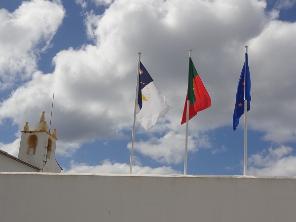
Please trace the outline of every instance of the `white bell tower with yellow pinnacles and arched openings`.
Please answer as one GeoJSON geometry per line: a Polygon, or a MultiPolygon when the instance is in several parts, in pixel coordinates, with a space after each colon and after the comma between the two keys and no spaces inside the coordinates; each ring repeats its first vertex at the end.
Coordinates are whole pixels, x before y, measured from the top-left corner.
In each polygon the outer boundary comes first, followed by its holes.
{"type": "Polygon", "coordinates": [[[45,112],[42,112],[40,121],[31,129],[26,122],[21,135],[18,158],[37,166],[40,172],[61,173],[62,168],[55,159],[57,133],[52,134],[45,121],[45,112]]]}

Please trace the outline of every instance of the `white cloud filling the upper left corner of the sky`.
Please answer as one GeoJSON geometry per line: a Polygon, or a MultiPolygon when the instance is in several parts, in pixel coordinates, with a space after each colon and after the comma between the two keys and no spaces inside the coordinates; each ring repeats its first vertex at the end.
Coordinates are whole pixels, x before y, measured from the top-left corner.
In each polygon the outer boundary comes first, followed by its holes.
{"type": "Polygon", "coordinates": [[[12,13],[0,9],[0,90],[30,79],[64,14],[60,3],[44,0],[24,1],[12,13]]]}

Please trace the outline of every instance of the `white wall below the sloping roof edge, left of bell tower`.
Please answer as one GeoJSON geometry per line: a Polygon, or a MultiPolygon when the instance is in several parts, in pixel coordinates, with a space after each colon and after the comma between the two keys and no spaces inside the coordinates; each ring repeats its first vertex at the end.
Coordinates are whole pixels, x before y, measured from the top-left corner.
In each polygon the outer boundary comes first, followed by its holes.
{"type": "MultiPolygon", "coordinates": [[[[39,170],[0,154],[0,170],[10,172],[39,172],[39,170]]],[[[1,189],[1,186],[0,186],[1,189]]]]}

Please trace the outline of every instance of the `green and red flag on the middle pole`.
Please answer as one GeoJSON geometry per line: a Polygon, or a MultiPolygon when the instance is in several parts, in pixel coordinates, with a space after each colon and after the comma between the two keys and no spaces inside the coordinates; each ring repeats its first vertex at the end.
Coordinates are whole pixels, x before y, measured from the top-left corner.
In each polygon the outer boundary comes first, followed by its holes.
{"type": "Polygon", "coordinates": [[[187,100],[189,100],[188,120],[196,115],[198,111],[205,110],[211,106],[211,98],[197,74],[191,58],[189,57],[188,89],[181,124],[186,122],[187,100]]]}

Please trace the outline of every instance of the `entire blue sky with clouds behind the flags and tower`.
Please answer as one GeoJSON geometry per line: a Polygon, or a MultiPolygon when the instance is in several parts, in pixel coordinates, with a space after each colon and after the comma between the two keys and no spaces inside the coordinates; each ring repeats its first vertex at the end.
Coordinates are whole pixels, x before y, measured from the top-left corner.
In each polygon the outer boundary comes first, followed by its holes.
{"type": "Polygon", "coordinates": [[[171,109],[135,128],[133,173],[184,174],[188,49],[212,106],[189,121],[187,174],[243,175],[232,129],[245,45],[247,175],[296,176],[296,0],[0,0],[0,149],[57,131],[63,173],[129,173],[138,52],[171,109]]]}

